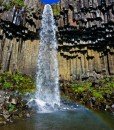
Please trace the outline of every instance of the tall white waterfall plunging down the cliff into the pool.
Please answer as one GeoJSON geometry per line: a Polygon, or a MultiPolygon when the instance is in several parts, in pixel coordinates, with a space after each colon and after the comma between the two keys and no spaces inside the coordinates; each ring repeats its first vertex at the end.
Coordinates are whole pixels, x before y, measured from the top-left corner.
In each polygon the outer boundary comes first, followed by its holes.
{"type": "Polygon", "coordinates": [[[60,106],[56,26],[48,4],[42,15],[36,85],[35,101],[40,111],[55,110],[60,106]]]}

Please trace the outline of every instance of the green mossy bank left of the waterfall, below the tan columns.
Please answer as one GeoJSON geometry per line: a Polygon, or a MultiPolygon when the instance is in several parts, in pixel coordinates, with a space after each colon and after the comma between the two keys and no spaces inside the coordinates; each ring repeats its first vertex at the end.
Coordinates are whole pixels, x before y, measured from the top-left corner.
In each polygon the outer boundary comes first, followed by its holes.
{"type": "Polygon", "coordinates": [[[5,72],[0,75],[0,88],[18,90],[21,93],[34,92],[35,82],[30,76],[5,72]]]}

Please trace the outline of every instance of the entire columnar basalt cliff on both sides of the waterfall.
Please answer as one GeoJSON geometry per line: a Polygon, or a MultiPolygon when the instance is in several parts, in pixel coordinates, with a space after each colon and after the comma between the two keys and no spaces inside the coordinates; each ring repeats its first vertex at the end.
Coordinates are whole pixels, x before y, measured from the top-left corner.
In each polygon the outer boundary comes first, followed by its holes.
{"type": "MultiPolygon", "coordinates": [[[[0,70],[35,74],[43,5],[0,7],[0,70]]],[[[114,74],[114,5],[110,1],[64,1],[53,5],[61,79],[114,74]]]]}

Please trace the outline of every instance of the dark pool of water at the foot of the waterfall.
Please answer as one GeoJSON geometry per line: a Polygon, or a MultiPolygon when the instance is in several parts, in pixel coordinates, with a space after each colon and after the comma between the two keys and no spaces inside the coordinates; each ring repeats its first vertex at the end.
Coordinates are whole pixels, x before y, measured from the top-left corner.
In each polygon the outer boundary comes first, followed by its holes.
{"type": "Polygon", "coordinates": [[[0,127],[0,130],[114,130],[114,116],[86,109],[38,113],[0,127]]]}

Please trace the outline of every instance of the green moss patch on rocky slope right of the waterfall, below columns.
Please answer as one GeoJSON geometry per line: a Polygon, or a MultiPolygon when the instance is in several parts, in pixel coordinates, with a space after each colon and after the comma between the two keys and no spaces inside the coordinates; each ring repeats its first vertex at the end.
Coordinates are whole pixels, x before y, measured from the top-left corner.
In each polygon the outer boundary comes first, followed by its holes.
{"type": "Polygon", "coordinates": [[[97,86],[92,86],[89,81],[76,82],[71,84],[71,89],[76,94],[78,100],[81,101],[80,95],[83,97],[83,101],[91,99],[94,97],[98,102],[105,101],[106,95],[112,95],[114,92],[114,78],[105,77],[99,80],[97,86]]]}

